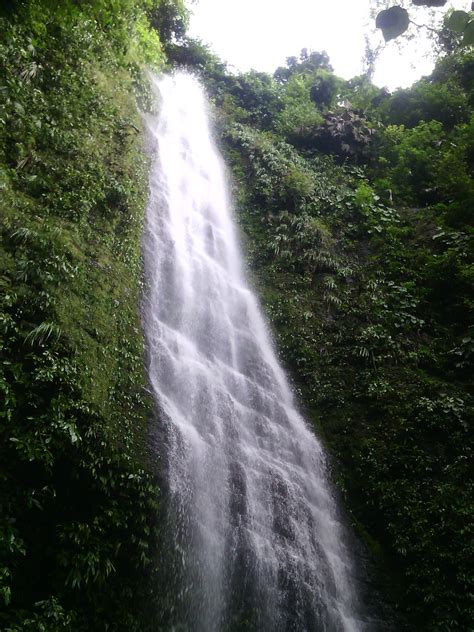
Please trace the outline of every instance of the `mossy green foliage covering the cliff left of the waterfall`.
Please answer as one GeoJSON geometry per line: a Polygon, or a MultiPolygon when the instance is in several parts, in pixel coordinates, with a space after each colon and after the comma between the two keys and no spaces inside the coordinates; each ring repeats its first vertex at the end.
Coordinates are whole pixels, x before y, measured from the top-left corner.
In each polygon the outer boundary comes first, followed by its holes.
{"type": "Polygon", "coordinates": [[[157,12],[131,0],[2,9],[0,628],[10,632],[141,632],[154,614],[135,97],[146,98],[144,64],[164,62],[157,12]]]}

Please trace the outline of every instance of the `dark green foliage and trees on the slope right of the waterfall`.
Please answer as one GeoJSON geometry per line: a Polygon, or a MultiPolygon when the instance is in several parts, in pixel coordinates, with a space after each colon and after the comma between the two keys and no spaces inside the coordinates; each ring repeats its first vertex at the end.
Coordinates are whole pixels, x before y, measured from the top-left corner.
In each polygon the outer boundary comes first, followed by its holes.
{"type": "Polygon", "coordinates": [[[307,51],[273,79],[203,72],[278,348],[398,628],[474,617],[473,62],[393,95],[307,51]]]}

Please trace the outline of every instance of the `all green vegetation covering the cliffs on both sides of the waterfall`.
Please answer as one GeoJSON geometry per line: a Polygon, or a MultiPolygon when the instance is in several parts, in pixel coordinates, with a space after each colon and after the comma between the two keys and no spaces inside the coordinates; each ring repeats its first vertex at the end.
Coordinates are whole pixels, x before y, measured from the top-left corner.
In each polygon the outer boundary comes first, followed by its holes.
{"type": "Polygon", "coordinates": [[[0,9],[2,629],[172,609],[138,314],[137,101],[168,60],[206,82],[282,360],[398,628],[469,629],[474,54],[453,16],[432,76],[390,95],[325,53],[232,75],[180,0],[0,9]]]}

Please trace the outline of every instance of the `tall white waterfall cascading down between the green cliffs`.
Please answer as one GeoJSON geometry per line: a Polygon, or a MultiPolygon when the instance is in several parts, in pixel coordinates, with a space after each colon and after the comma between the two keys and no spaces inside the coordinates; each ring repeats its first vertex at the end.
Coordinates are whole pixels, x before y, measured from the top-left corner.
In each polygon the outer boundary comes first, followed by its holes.
{"type": "Polygon", "coordinates": [[[154,85],[144,322],[164,424],[169,629],[362,630],[324,454],[245,278],[202,89],[185,74],[154,85]]]}

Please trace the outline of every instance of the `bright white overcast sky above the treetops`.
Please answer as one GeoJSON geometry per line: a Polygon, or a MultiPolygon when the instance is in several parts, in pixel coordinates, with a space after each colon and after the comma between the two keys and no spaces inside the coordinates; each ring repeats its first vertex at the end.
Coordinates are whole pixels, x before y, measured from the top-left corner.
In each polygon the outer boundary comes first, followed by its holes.
{"type": "MultiPolygon", "coordinates": [[[[470,4],[453,0],[436,14],[442,15],[448,6],[469,10],[470,4]]],[[[326,50],[336,74],[349,79],[362,70],[364,33],[373,24],[370,5],[370,0],[197,0],[188,3],[193,13],[189,34],[243,71],[273,73],[302,48],[326,50]]],[[[416,7],[411,14],[415,11],[416,7]]],[[[423,22],[419,13],[417,21],[423,22]]],[[[393,41],[385,46],[374,83],[405,87],[431,71],[427,40],[419,36],[407,46],[404,53],[393,41]]]]}

